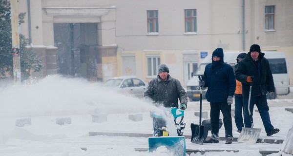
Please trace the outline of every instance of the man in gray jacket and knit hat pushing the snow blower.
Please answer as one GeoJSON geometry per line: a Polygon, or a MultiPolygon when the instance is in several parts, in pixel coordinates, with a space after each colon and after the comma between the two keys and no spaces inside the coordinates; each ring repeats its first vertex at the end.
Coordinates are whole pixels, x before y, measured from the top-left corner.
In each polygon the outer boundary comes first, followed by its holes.
{"type": "MultiPolygon", "coordinates": [[[[158,66],[158,73],[159,75],[157,78],[153,78],[148,82],[148,86],[144,93],[144,99],[151,101],[156,104],[156,106],[178,108],[179,98],[181,103],[179,108],[186,110],[188,97],[180,81],[171,78],[169,75],[169,68],[166,64],[160,64],[158,66]]],[[[153,117],[153,127],[153,136],[158,136],[160,134],[159,130],[162,127],[166,127],[165,119],[153,117]]]]}

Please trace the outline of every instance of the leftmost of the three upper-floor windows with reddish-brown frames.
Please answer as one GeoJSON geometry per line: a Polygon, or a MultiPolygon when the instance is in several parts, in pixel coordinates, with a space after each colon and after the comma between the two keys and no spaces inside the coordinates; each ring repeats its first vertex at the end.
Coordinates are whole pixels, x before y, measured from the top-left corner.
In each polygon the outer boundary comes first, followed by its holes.
{"type": "Polygon", "coordinates": [[[147,32],[159,32],[158,10],[147,11],[147,32]]]}

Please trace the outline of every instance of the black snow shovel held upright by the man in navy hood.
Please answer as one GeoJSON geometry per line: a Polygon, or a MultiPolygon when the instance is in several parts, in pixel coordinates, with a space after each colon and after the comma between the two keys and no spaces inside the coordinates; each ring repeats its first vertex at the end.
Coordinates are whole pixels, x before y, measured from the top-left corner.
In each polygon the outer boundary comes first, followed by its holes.
{"type": "MultiPolygon", "coordinates": [[[[202,80],[202,75],[198,76],[198,79],[201,81],[202,80]]],[[[202,86],[200,86],[200,100],[199,100],[199,125],[191,123],[190,128],[191,128],[191,142],[196,143],[196,144],[204,144],[204,141],[208,137],[208,129],[205,128],[204,125],[201,124],[201,115],[202,115],[202,98],[203,98],[203,89],[202,86]]]]}

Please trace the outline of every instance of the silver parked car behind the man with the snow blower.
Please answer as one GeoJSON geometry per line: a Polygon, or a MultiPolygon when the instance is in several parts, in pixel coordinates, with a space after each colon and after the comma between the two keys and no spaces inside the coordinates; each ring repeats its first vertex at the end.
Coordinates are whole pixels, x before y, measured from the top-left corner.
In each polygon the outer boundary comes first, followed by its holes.
{"type": "Polygon", "coordinates": [[[147,83],[140,78],[123,76],[110,78],[103,83],[103,86],[116,88],[126,95],[143,98],[147,83]]]}

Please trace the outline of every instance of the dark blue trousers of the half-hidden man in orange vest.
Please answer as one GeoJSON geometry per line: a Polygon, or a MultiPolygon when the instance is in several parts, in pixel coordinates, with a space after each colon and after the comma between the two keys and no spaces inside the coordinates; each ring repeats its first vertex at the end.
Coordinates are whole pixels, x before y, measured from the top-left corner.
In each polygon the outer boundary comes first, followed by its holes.
{"type": "Polygon", "coordinates": [[[235,96],[235,124],[237,130],[241,131],[242,127],[244,127],[243,117],[242,117],[242,110],[243,110],[243,97],[242,96],[235,96]]]}

